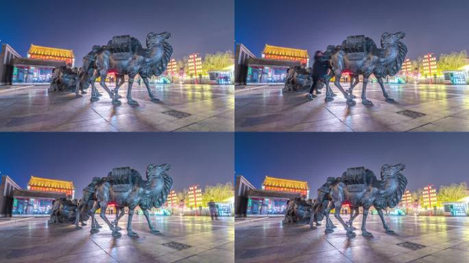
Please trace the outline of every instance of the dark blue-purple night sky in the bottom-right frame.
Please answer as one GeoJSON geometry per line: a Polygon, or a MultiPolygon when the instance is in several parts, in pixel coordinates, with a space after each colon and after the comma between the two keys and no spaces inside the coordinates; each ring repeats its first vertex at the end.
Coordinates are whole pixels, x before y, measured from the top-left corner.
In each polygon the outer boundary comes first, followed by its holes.
{"type": "Polygon", "coordinates": [[[310,193],[347,168],[380,177],[383,164],[406,164],[409,190],[469,183],[469,133],[237,133],[236,174],[261,188],[265,175],[308,181],[310,193]]]}

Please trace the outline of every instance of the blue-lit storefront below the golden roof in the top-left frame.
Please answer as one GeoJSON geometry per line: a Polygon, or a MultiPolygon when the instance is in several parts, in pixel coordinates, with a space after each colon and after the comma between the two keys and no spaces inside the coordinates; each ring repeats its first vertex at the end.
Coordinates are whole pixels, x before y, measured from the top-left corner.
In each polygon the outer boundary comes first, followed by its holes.
{"type": "Polygon", "coordinates": [[[12,84],[50,84],[56,66],[65,66],[65,62],[16,58],[13,61],[12,84]]]}

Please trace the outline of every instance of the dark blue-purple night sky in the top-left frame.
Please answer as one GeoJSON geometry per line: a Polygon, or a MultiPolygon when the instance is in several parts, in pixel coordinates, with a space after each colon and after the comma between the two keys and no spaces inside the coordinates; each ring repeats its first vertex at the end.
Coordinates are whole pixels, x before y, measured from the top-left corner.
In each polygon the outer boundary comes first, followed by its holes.
{"type": "Polygon", "coordinates": [[[145,46],[149,32],[170,32],[180,59],[232,50],[232,0],[1,1],[0,40],[26,56],[29,45],[73,49],[75,64],[93,45],[130,34],[145,46]]]}

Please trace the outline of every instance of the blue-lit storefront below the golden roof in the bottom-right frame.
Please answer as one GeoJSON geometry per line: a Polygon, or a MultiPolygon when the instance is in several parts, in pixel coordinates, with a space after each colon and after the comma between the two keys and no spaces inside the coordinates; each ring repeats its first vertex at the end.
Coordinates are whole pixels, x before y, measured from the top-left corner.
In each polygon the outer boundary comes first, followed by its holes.
{"type": "Polygon", "coordinates": [[[284,216],[287,202],[296,197],[301,197],[299,192],[248,190],[246,216],[284,216]]]}

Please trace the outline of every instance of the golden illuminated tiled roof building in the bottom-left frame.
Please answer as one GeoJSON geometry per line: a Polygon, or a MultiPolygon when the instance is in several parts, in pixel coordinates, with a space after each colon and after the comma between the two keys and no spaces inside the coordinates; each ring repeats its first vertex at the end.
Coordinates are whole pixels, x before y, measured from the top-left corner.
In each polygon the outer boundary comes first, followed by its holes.
{"type": "Polygon", "coordinates": [[[27,190],[64,192],[66,196],[71,195],[72,199],[75,198],[75,187],[73,186],[73,181],[62,181],[31,176],[27,183],[27,190]]]}

